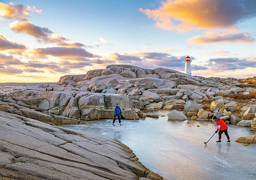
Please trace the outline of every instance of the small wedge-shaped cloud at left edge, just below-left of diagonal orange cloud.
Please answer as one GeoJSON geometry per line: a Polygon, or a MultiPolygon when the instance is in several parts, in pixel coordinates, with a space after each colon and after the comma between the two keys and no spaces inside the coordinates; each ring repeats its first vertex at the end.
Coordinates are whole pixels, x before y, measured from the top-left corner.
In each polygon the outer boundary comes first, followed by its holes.
{"type": "Polygon", "coordinates": [[[25,45],[21,43],[15,43],[13,41],[8,41],[3,34],[0,34],[0,51],[4,50],[24,50],[25,45]]]}

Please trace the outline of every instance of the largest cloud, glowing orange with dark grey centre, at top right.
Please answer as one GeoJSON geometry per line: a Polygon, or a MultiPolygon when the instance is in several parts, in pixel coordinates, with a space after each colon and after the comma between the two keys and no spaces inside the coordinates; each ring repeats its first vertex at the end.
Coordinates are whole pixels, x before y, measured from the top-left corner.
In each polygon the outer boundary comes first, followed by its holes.
{"type": "Polygon", "coordinates": [[[166,30],[221,29],[256,16],[255,0],[167,0],[156,10],[142,9],[166,30]]]}

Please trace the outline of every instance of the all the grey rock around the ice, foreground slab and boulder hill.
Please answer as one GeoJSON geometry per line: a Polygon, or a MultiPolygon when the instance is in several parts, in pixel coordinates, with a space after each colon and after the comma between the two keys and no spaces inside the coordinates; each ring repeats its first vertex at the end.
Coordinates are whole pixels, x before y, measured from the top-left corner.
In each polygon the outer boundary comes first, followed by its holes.
{"type": "MultiPolygon", "coordinates": [[[[163,109],[170,111],[170,121],[212,122],[219,116],[255,131],[255,87],[256,77],[205,78],[165,68],[109,65],[61,77],[57,84],[0,94],[0,177],[162,179],[120,142],[55,125],[111,119],[119,103],[125,119],[157,118],[152,112],[163,109]]],[[[256,134],[237,142],[256,143],[256,134]]]]}

